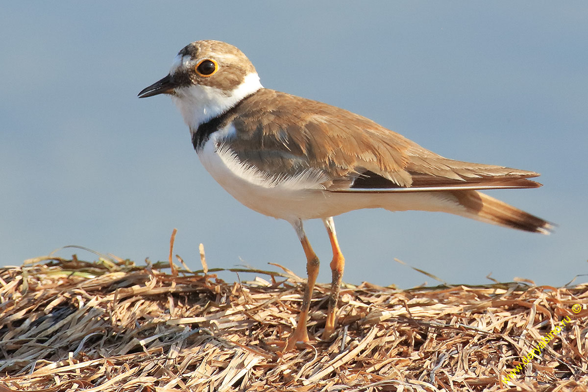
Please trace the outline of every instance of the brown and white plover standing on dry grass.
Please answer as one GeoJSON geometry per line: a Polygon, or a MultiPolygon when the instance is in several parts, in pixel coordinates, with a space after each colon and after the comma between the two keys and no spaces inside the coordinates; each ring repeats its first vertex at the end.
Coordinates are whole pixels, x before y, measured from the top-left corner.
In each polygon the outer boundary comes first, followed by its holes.
{"type": "Polygon", "coordinates": [[[162,93],[178,106],[214,179],[243,205],[287,220],[298,234],[308,284],[286,350],[309,340],[306,319],[319,270],[303,220],[322,219],[333,250],[323,339],[335,330],[344,265],[335,215],[363,208],[423,210],[528,232],[552,229],[546,220],[478,192],[539,187],[529,180],[538,173],[447,159],[348,110],[263,88],[253,64],[228,43],[190,43],[169,74],[139,98],[162,93]]]}

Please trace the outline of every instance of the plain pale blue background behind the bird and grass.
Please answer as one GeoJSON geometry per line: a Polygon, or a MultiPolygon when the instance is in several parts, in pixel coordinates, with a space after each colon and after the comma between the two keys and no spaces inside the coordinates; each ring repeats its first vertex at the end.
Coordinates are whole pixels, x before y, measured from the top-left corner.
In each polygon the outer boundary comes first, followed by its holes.
{"type": "MultiPolygon", "coordinates": [[[[558,223],[552,236],[356,211],[335,219],[344,280],[435,283],[395,257],[450,283],[492,272],[557,286],[586,273],[586,2],[317,3],[5,2],[0,264],[67,244],[166,260],[177,227],[175,253],[194,268],[203,242],[211,267],[278,262],[305,276],[292,227],[212,180],[169,98],[136,98],[187,43],[219,39],[268,88],[353,110],[450,158],[542,173],[541,189],[492,195],[558,223]]],[[[322,223],[306,227],[330,282],[322,223]]],[[[95,259],[59,254],[73,252],[95,259]]]]}

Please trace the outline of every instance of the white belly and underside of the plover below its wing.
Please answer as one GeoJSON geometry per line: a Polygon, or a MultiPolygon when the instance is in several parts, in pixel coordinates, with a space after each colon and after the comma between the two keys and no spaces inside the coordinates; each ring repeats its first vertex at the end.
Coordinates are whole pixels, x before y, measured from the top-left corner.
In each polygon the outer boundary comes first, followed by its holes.
{"type": "Polygon", "coordinates": [[[263,215],[293,222],[336,216],[362,208],[451,213],[460,209],[455,197],[445,192],[338,193],[320,189],[322,180],[312,173],[295,179],[272,179],[255,167],[244,165],[223,146],[222,139],[234,132],[231,128],[213,133],[198,152],[199,159],[230,195],[263,215]]]}

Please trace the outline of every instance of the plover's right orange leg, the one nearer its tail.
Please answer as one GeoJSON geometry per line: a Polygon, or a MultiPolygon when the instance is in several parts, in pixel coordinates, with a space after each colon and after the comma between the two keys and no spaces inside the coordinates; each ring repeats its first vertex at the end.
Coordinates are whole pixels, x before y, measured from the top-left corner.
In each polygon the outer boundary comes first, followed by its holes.
{"type": "Polygon", "coordinates": [[[335,222],[333,217],[323,219],[327,233],[329,234],[329,240],[333,249],[333,260],[330,263],[331,272],[333,274],[333,280],[331,282],[331,293],[329,297],[329,313],[327,314],[327,320],[325,323],[325,331],[321,336],[321,339],[327,340],[335,331],[335,318],[337,316],[337,303],[339,301],[339,288],[341,287],[341,279],[343,278],[343,268],[345,267],[345,257],[341,253],[339,248],[339,242],[337,241],[337,233],[335,233],[335,222]]]}

